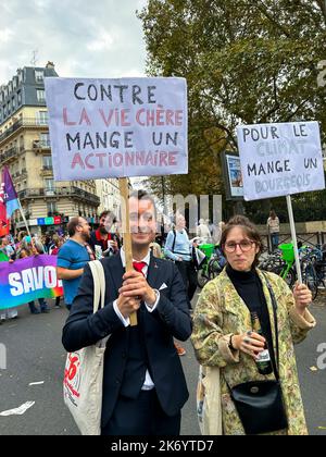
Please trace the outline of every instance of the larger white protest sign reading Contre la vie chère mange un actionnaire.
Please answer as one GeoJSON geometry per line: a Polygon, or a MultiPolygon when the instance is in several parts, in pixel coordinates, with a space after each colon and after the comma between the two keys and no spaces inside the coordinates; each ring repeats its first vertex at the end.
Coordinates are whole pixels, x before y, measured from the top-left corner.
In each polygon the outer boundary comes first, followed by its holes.
{"type": "Polygon", "coordinates": [[[186,79],[45,84],[55,181],[188,173],[186,79]]]}

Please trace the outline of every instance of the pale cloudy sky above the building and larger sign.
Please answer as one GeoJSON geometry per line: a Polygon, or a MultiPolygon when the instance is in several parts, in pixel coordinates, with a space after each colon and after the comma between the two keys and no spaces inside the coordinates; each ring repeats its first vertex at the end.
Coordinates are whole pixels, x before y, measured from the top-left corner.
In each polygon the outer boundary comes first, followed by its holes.
{"type": "Polygon", "coordinates": [[[52,61],[61,77],[145,76],[136,10],[147,0],[10,0],[0,8],[0,85],[52,61]]]}

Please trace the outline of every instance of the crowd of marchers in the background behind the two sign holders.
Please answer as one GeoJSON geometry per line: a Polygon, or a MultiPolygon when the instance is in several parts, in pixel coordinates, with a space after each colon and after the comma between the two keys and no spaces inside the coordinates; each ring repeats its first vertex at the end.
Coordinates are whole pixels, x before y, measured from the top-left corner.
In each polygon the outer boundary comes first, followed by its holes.
{"type": "MultiPolygon", "coordinates": [[[[200,220],[196,234],[200,243],[218,244],[224,223],[218,226],[210,223],[209,220],[200,220]]],[[[122,235],[120,222],[110,210],[104,210],[99,217],[99,226],[91,231],[86,219],[82,217],[72,218],[65,234],[46,233],[41,236],[28,235],[21,231],[15,237],[12,235],[0,238],[0,254],[2,252],[9,262],[38,255],[51,255],[58,259],[58,277],[63,281],[65,291],[64,305],[70,310],[72,301],[77,293],[79,279],[83,275],[85,264],[95,259],[116,255],[122,247],[122,235]]],[[[151,250],[156,258],[174,260],[188,291],[189,304],[193,298],[197,288],[197,272],[191,259],[191,245],[186,228],[186,219],[176,214],[170,224],[165,224],[160,235],[153,237],[151,250]],[[171,240],[176,236],[175,242],[171,240]]],[[[62,297],[55,298],[55,308],[61,307],[62,297]]],[[[47,313],[50,308],[45,298],[38,299],[39,308],[35,301],[28,302],[30,313],[47,313]]],[[[189,305],[191,310],[191,305],[189,305]]],[[[17,308],[2,310],[0,322],[7,319],[16,319],[17,308]]],[[[175,343],[178,354],[185,355],[186,350],[175,343]]]]}

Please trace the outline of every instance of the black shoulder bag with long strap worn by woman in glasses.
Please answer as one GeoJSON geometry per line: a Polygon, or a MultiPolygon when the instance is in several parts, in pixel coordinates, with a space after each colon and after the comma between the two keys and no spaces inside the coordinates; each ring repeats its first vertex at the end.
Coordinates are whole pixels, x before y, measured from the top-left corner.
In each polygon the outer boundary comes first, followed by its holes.
{"type": "MultiPolygon", "coordinates": [[[[279,368],[277,302],[273,288],[265,276],[271,294],[275,320],[277,366],[279,368]]],[[[273,348],[268,348],[273,350],[273,348]]],[[[283,403],[278,368],[274,366],[275,380],[252,381],[229,388],[246,434],[258,435],[288,428],[287,415],[283,403]]]]}

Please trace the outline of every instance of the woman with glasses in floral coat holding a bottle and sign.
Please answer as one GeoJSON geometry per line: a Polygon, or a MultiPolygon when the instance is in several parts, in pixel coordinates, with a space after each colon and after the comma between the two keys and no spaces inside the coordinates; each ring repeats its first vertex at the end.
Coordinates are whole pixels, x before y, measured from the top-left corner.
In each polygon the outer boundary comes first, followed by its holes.
{"type": "MultiPolygon", "coordinates": [[[[276,430],[274,425],[269,433],[308,434],[293,344],[302,342],[316,324],[308,311],[312,295],[305,285],[297,285],[292,293],[283,279],[256,269],[262,242],[247,218],[229,221],[221,246],[227,265],[204,287],[193,316],[196,356],[209,372],[220,369],[221,390],[214,388],[211,396],[206,392],[206,420],[220,421],[225,435],[248,434],[233,399],[234,387],[279,378],[287,427],[276,430]],[[253,326],[256,320],[260,331],[253,326]],[[262,361],[269,370],[262,371],[262,361]]],[[[209,385],[209,379],[205,382],[209,385]]]]}

